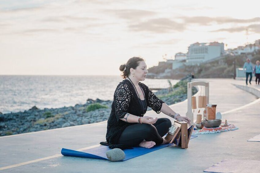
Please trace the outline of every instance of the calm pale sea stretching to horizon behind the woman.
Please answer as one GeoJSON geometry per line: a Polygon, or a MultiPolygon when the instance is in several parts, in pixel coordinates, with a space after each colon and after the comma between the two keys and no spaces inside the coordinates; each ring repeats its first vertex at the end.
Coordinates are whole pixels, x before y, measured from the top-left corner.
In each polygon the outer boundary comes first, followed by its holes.
{"type": "MultiPolygon", "coordinates": [[[[120,76],[0,75],[0,112],[59,108],[85,104],[87,99],[113,100],[120,76]]],[[[174,85],[179,80],[170,80],[174,85]]],[[[168,79],[145,79],[149,88],[168,88],[168,79]]]]}

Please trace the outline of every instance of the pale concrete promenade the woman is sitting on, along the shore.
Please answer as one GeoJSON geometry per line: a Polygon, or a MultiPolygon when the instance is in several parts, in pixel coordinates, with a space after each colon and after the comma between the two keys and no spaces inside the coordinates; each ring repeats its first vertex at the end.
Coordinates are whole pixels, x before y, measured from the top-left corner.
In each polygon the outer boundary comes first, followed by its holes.
{"type": "MultiPolygon", "coordinates": [[[[260,93],[260,86],[254,81],[245,86],[245,81],[233,79],[195,80],[209,82],[209,102],[216,103],[223,121],[227,119],[238,130],[198,134],[188,149],[166,147],[124,162],[60,154],[62,148],[83,150],[105,141],[106,121],[5,136],[0,137],[0,172],[203,172],[224,159],[260,160],[260,142],[247,141],[260,134],[260,99],[238,88],[260,93]]],[[[171,107],[185,116],[187,100],[171,107]]],[[[146,115],[168,117],[154,111],[146,115]]]]}

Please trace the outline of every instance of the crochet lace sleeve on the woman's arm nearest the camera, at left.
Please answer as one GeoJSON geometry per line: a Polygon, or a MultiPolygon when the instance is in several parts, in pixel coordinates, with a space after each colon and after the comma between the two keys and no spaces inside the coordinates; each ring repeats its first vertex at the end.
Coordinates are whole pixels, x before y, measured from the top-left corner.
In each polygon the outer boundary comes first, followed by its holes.
{"type": "Polygon", "coordinates": [[[119,84],[114,94],[117,121],[119,121],[120,118],[124,118],[124,115],[128,112],[130,101],[131,92],[128,85],[126,83],[119,84]]]}

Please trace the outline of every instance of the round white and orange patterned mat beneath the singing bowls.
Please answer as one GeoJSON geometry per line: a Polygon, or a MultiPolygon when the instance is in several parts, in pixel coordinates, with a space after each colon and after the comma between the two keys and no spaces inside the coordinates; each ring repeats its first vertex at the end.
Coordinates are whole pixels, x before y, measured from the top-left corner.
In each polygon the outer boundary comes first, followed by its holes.
{"type": "Polygon", "coordinates": [[[214,128],[207,128],[203,127],[202,129],[193,130],[192,134],[214,134],[218,132],[224,132],[229,130],[236,130],[238,127],[236,127],[234,124],[228,124],[227,127],[214,127],[214,128]]]}

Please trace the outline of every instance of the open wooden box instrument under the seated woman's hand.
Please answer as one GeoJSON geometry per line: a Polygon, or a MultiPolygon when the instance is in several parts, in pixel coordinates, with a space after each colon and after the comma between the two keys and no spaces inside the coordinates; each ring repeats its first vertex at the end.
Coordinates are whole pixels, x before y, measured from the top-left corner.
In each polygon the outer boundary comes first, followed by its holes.
{"type": "Polygon", "coordinates": [[[193,125],[187,122],[174,121],[165,139],[182,149],[187,149],[192,130],[193,125]]]}

